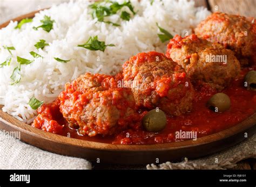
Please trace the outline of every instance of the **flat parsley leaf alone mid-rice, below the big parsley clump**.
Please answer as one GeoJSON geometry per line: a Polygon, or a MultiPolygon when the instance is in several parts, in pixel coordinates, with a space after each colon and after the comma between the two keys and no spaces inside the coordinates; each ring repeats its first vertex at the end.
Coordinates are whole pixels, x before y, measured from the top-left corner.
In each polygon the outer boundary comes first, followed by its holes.
{"type": "Polygon", "coordinates": [[[114,46],[113,44],[105,45],[105,41],[99,41],[98,36],[90,37],[85,44],[78,45],[78,47],[83,47],[91,51],[102,51],[104,52],[107,46],[114,46]]]}

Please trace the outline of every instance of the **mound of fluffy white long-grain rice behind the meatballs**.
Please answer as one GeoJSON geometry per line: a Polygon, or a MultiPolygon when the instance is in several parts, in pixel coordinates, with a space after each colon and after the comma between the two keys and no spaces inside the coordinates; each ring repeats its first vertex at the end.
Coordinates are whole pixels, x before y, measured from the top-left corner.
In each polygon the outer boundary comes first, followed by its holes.
{"type": "MultiPolygon", "coordinates": [[[[118,1],[122,3],[123,0],[118,1]]],[[[191,33],[191,27],[205,19],[210,12],[204,8],[195,8],[193,1],[155,0],[151,5],[149,0],[132,0],[137,14],[129,21],[120,21],[121,26],[112,26],[92,19],[87,6],[88,1],[71,1],[54,5],[48,10],[37,13],[32,23],[24,24],[21,30],[14,29],[17,21],[0,30],[0,63],[6,60],[9,52],[3,46],[14,46],[10,66],[0,68],[0,104],[3,111],[26,123],[30,123],[36,115],[28,105],[34,95],[45,103],[52,102],[70,82],[85,72],[115,74],[130,56],[139,52],[165,52],[164,44],[158,38],[159,26],[172,35],[191,33]],[[48,33],[41,28],[38,31],[33,26],[41,25],[40,20],[45,15],[55,20],[53,29],[48,33]],[[84,44],[90,36],[98,35],[100,41],[114,44],[105,52],[90,51],[79,44],[84,44]],[[44,39],[49,46],[39,51],[34,47],[36,42],[44,39]],[[17,56],[33,59],[29,52],[42,56],[35,62],[22,65],[22,78],[18,84],[10,85],[10,76],[18,66],[17,56]],[[53,59],[71,59],[68,63],[60,63],[53,59]]],[[[110,21],[119,21],[119,16],[113,15],[110,21]]]]}

